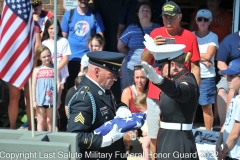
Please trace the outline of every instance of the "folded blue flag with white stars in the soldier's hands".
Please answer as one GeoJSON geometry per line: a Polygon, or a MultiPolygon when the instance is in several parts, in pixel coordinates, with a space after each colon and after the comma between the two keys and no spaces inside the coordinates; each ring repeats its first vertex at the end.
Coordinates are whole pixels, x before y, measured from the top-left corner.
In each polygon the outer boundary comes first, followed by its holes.
{"type": "Polygon", "coordinates": [[[118,131],[125,133],[131,130],[137,130],[140,129],[144,122],[146,120],[146,114],[145,113],[133,113],[131,118],[114,118],[106,123],[104,123],[102,126],[94,130],[94,134],[101,134],[102,136],[105,136],[108,134],[114,124],[117,124],[118,131]]]}

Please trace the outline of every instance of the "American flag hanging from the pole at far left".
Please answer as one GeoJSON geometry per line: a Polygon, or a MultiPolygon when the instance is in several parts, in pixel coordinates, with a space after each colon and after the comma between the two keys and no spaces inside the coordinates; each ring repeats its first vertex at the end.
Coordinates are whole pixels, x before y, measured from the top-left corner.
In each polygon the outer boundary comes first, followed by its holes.
{"type": "Polygon", "coordinates": [[[30,0],[5,0],[0,28],[0,78],[21,89],[31,76],[34,22],[30,0]]]}

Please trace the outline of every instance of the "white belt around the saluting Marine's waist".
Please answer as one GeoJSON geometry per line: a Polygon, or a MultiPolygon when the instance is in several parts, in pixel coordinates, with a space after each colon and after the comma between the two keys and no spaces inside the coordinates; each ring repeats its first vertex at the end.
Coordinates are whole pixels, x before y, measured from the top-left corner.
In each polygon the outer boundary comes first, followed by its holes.
{"type": "Polygon", "coordinates": [[[188,131],[192,129],[193,124],[184,124],[184,123],[168,123],[160,121],[160,128],[163,129],[172,129],[172,130],[184,130],[188,131]]]}

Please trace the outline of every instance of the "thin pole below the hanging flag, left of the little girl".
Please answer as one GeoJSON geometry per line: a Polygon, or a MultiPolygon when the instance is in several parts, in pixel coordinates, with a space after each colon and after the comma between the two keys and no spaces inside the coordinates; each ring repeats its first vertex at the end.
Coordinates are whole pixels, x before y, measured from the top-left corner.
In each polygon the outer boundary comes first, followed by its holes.
{"type": "Polygon", "coordinates": [[[34,111],[33,111],[33,100],[32,100],[32,76],[28,80],[28,85],[29,85],[30,117],[31,117],[32,137],[35,137],[34,111]]]}

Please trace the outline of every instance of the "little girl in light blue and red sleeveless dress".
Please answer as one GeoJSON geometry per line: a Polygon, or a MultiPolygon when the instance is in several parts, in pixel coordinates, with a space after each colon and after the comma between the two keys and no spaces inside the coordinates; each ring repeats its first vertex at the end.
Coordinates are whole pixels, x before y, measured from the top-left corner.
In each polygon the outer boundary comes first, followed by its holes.
{"type": "Polygon", "coordinates": [[[37,130],[52,131],[54,69],[51,52],[46,46],[37,48],[32,74],[33,106],[37,110],[37,130]]]}

